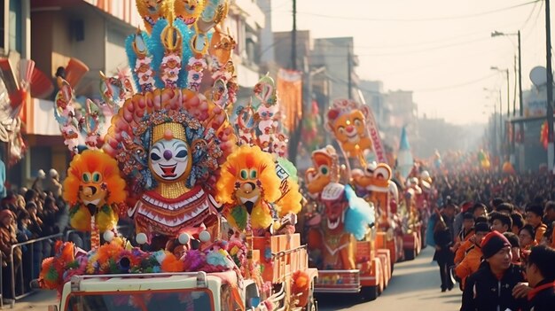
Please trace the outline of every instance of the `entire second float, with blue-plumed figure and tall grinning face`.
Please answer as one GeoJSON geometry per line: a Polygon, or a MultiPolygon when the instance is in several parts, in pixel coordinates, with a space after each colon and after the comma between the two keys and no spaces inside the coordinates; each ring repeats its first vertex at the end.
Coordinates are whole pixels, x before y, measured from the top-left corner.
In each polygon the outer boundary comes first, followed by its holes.
{"type": "Polygon", "coordinates": [[[338,99],[326,117],[340,152],[331,145],[312,152],[313,167],[305,173],[309,202],[303,218],[311,265],[319,269],[315,290],[375,299],[395,262],[419,253],[418,206],[426,208],[427,197],[416,191],[418,185],[394,182],[368,106],[338,99]]]}

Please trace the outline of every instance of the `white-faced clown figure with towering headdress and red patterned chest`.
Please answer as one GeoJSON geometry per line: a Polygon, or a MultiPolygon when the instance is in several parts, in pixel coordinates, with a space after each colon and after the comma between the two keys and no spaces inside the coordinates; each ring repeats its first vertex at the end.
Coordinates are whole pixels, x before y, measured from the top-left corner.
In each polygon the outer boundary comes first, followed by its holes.
{"type": "Polygon", "coordinates": [[[137,231],[173,236],[215,214],[209,197],[237,143],[225,112],[238,89],[235,43],[216,27],[227,0],[141,0],[137,8],[146,31],[126,41],[137,94],[113,116],[104,150],[136,195],[137,231]]]}

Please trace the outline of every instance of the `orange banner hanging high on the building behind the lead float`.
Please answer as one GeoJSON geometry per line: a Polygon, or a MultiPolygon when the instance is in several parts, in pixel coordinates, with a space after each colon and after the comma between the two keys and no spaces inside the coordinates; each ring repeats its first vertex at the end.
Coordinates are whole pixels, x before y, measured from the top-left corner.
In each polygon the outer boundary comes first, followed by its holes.
{"type": "MultiPolygon", "coordinates": [[[[277,98],[279,111],[285,114],[284,128],[292,133],[302,118],[302,73],[279,69],[277,73],[277,98]]],[[[291,134],[290,134],[291,135],[291,134]]]]}

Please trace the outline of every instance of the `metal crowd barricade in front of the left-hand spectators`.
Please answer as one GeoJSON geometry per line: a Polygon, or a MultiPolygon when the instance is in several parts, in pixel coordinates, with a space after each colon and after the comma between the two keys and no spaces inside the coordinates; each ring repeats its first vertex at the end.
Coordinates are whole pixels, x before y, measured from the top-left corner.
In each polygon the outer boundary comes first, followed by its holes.
{"type": "MultiPolygon", "coordinates": [[[[10,286],[12,287],[11,290],[12,290],[12,298],[13,299],[15,299],[15,300],[21,299],[21,298],[26,297],[27,295],[35,292],[34,289],[29,289],[28,292],[26,291],[25,280],[24,280],[24,276],[23,276],[23,269],[27,268],[27,267],[23,267],[23,256],[22,256],[20,267],[18,267],[18,269],[17,269],[18,272],[19,272],[19,273],[17,273],[17,275],[20,278],[19,284],[20,284],[21,294],[20,295],[15,294],[15,292],[16,292],[15,291],[16,290],[16,277],[15,277],[16,276],[16,271],[15,271],[15,268],[16,267],[14,267],[14,264],[13,264],[13,262],[14,262],[14,260],[13,260],[14,250],[17,247],[29,245],[29,246],[27,246],[28,247],[27,252],[30,252],[30,254],[31,254],[31,256],[30,256],[30,263],[31,263],[30,273],[31,273],[31,277],[33,277],[33,276],[35,276],[35,244],[36,243],[43,243],[43,241],[46,241],[46,240],[49,240],[49,239],[59,239],[60,237],[63,237],[63,236],[64,235],[62,233],[59,233],[59,234],[54,234],[54,235],[47,236],[47,237],[34,238],[34,239],[28,240],[26,242],[22,242],[22,243],[12,245],[12,247],[10,249],[10,260],[11,260],[10,261],[10,268],[12,270],[11,271],[11,275],[12,275],[12,280],[11,281],[12,282],[11,282],[10,286]]],[[[21,253],[23,254],[23,251],[21,251],[21,253]]],[[[38,267],[39,269],[40,269],[40,265],[41,265],[41,263],[39,262],[39,267],[38,267]]],[[[1,281],[1,279],[0,279],[0,281],[1,281]]],[[[0,286],[2,286],[2,285],[0,285],[0,286]]]]}

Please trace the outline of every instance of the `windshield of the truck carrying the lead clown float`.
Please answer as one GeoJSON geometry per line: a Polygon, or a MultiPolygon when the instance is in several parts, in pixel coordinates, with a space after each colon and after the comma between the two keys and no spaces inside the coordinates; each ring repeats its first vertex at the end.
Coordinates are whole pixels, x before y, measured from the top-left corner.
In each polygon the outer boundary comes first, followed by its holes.
{"type": "Polygon", "coordinates": [[[209,291],[79,292],[68,296],[66,311],[210,311],[209,291]]]}

